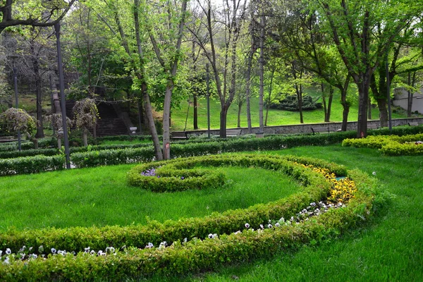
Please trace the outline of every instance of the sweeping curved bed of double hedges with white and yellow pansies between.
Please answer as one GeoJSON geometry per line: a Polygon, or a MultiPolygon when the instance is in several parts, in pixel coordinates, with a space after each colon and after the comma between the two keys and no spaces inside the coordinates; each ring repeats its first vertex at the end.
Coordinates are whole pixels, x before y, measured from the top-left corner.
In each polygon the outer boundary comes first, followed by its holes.
{"type": "Polygon", "coordinates": [[[372,212],[375,179],[326,161],[234,154],[168,163],[183,169],[197,164],[272,169],[297,180],[303,188],[275,202],[204,218],[152,221],[146,226],[8,231],[0,234],[0,277],[79,281],[185,274],[325,240],[372,212]],[[310,165],[318,168],[306,167],[310,165]],[[354,181],[355,189],[348,197],[333,197],[333,190],[345,188],[334,176],[354,181]]]}

